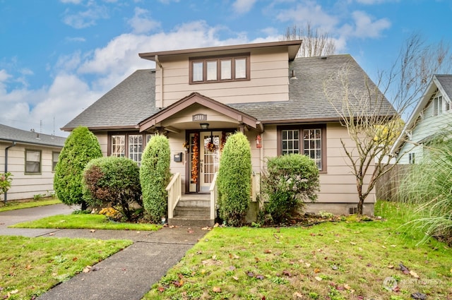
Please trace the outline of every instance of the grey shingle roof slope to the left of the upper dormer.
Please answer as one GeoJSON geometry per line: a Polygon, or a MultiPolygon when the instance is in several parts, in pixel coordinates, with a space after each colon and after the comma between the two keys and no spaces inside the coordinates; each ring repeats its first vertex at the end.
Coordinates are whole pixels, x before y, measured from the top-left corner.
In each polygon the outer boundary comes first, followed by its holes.
{"type": "Polygon", "coordinates": [[[155,108],[155,70],[138,70],[61,129],[135,128],[157,112],[160,109],[155,108]]]}

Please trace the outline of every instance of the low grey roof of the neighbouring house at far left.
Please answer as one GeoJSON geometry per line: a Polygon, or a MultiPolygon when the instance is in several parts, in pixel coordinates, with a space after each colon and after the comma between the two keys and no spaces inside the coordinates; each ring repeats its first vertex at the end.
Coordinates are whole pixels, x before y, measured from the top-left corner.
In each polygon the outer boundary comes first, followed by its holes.
{"type": "Polygon", "coordinates": [[[25,131],[22,129],[0,124],[0,140],[63,148],[66,138],[63,138],[61,136],[49,136],[47,134],[32,131],[25,131]]]}

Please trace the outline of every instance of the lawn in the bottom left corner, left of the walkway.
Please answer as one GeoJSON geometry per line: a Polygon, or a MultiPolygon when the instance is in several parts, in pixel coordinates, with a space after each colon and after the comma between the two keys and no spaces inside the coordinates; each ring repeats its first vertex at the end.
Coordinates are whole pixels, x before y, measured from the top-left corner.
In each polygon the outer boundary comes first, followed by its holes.
{"type": "Polygon", "coordinates": [[[131,244],[128,240],[0,236],[0,298],[32,299],[131,244]]]}

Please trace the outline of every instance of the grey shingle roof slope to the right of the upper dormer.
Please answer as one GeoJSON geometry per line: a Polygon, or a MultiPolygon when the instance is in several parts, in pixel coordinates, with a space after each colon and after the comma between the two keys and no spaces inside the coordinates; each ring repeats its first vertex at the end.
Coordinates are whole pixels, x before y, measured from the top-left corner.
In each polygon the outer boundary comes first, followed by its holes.
{"type": "MultiPolygon", "coordinates": [[[[376,88],[367,74],[349,54],[303,57],[290,62],[290,70],[295,77],[289,81],[289,101],[230,104],[246,114],[256,117],[264,123],[272,121],[308,121],[341,119],[335,107],[342,107],[343,97],[340,93],[326,97],[324,85],[328,80],[328,90],[342,90],[343,83],[333,76],[342,69],[347,69],[350,90],[363,95],[369,88],[376,88]]],[[[392,105],[383,100],[379,112],[383,115],[395,114],[392,105]]]]}

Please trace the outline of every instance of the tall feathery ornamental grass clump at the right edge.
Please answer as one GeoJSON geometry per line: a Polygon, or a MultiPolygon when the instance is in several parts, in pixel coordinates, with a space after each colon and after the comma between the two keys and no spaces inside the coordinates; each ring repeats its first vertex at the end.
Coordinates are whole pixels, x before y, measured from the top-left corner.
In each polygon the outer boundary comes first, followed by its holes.
{"type": "MultiPolygon", "coordinates": [[[[446,135],[445,135],[446,136],[446,135]]],[[[447,135],[450,136],[450,135],[447,135]]],[[[412,164],[400,184],[398,198],[405,201],[412,221],[407,225],[452,244],[452,140],[439,138],[424,151],[420,164],[412,164]]]]}

